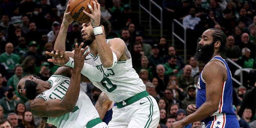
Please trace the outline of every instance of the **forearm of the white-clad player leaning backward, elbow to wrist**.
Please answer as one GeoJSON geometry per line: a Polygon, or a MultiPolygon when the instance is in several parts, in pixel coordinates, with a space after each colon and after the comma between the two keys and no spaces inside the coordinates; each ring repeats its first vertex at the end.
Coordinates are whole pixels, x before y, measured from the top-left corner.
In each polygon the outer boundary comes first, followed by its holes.
{"type": "Polygon", "coordinates": [[[72,76],[70,79],[70,84],[68,90],[62,99],[63,106],[67,107],[70,112],[72,112],[76,106],[76,102],[79,97],[80,92],[80,69],[74,68],[72,71],[72,76]]]}

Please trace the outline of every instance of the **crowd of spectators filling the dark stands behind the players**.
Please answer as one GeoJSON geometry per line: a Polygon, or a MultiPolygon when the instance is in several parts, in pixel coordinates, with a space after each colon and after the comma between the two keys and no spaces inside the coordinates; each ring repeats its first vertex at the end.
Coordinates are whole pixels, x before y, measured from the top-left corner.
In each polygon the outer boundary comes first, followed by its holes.
{"type": "MultiPolygon", "coordinates": [[[[128,1],[128,0],[126,0],[128,1]]],[[[9,120],[13,128],[54,128],[30,112],[31,101],[21,97],[16,89],[26,74],[36,74],[46,81],[58,66],[48,62],[45,54],[53,50],[68,0],[1,0],[0,8],[0,119],[9,120]]],[[[136,70],[146,90],[158,102],[159,128],[169,128],[172,122],[187,116],[186,108],[196,103],[197,82],[205,64],[189,54],[189,60],[178,55],[168,37],[148,41],[132,6],[121,0],[98,0],[101,14],[112,24],[107,38],[122,38],[132,56],[136,70]]],[[[132,1],[133,2],[133,1],[132,1]]],[[[221,29],[227,36],[226,55],[242,67],[228,62],[233,82],[233,108],[240,128],[256,128],[256,2],[253,0],[157,0],[164,14],[164,28],[171,20],[180,21],[187,29],[187,46],[196,49],[200,35],[208,28],[221,29]],[[170,20],[171,19],[171,20],[170,20]]],[[[83,42],[81,24],[70,24],[66,51],[76,42],[83,42]]],[[[92,102],[100,90],[82,83],[82,89],[92,102]]],[[[194,122],[186,128],[200,128],[194,122]]]]}

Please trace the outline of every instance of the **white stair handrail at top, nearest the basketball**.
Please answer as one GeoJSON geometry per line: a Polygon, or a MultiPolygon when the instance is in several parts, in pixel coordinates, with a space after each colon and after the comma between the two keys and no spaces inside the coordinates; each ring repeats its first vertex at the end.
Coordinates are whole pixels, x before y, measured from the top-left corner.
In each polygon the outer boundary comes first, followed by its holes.
{"type": "Polygon", "coordinates": [[[151,35],[152,34],[152,19],[151,17],[153,17],[159,24],[160,24],[160,36],[162,37],[163,36],[163,10],[162,8],[156,4],[153,0],[149,0],[149,10],[147,10],[144,6],[142,6],[142,4],[140,3],[140,0],[139,0],[139,21],[140,21],[140,24],[141,24],[141,8],[146,11],[148,14],[149,14],[149,34],[151,35]],[[151,12],[151,4],[154,4],[157,8],[160,9],[160,20],[158,18],[156,18],[156,16],[154,16],[151,12]]]}

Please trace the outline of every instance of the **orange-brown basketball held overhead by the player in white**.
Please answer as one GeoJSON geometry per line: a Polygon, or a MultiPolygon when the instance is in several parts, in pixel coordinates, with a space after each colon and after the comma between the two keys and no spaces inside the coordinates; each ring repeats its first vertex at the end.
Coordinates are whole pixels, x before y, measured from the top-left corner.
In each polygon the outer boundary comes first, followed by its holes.
{"type": "Polygon", "coordinates": [[[91,13],[90,9],[88,8],[87,4],[89,3],[94,8],[93,0],[71,0],[69,11],[71,12],[71,17],[79,23],[88,23],[90,22],[90,17],[84,14],[83,10],[88,13],[91,13]]]}

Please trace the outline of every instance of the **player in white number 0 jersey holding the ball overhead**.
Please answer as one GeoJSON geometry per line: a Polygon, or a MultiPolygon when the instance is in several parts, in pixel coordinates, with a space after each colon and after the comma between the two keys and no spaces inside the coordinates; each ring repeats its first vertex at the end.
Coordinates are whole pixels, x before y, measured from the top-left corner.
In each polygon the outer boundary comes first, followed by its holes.
{"type": "MultiPolygon", "coordinates": [[[[110,32],[110,22],[101,18],[100,4],[95,1],[93,4],[94,10],[89,6],[92,14],[84,12],[90,17],[90,22],[82,24],[81,32],[84,42],[90,46],[90,54],[86,56],[85,62],[104,74],[101,82],[93,84],[116,103],[112,108],[112,120],[108,126],[110,128],[156,128],[160,120],[156,100],[148,94],[146,86],[132,68],[131,54],[124,41],[120,38],[106,40],[110,32]]],[[[74,21],[68,11],[69,6],[68,4],[54,50],[65,50],[66,38],[64,37],[69,24],[74,21]]],[[[68,56],[72,57],[72,54],[68,56]]],[[[67,63],[70,63],[70,60],[67,63]]]]}

